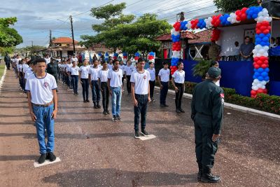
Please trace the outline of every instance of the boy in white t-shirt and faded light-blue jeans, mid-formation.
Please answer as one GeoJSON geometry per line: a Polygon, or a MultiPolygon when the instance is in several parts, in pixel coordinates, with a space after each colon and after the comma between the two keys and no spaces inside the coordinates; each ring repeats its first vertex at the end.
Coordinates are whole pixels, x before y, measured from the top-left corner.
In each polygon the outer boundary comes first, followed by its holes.
{"type": "Polygon", "coordinates": [[[123,71],[119,69],[118,60],[113,61],[113,69],[111,69],[108,73],[108,85],[109,85],[109,92],[111,95],[112,101],[112,115],[113,121],[120,121],[120,103],[122,101],[122,94],[123,94],[123,71]]]}

